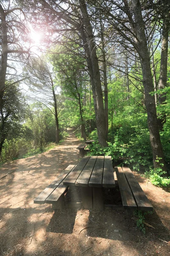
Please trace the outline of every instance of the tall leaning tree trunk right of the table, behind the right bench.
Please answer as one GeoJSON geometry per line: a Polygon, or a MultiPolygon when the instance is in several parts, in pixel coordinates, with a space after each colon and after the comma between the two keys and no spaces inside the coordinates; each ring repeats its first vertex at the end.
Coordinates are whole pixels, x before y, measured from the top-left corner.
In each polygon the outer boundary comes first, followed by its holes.
{"type": "Polygon", "coordinates": [[[150,67],[150,56],[147,49],[147,40],[144,32],[141,4],[139,0],[132,0],[132,9],[135,18],[136,35],[138,38],[138,52],[143,73],[145,105],[147,109],[147,123],[150,131],[150,143],[153,153],[153,165],[155,168],[160,167],[165,172],[167,172],[159,136],[155,99],[154,96],[150,95],[150,93],[153,92],[153,80],[150,67]],[[163,164],[163,167],[161,164],[163,164]]]}

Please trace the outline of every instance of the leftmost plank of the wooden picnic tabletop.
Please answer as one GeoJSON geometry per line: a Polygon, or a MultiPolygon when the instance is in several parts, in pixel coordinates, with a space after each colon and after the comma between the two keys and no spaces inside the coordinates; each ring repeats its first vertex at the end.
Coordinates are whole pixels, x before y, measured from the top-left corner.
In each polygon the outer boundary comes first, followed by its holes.
{"type": "Polygon", "coordinates": [[[77,178],[79,177],[80,173],[88,163],[90,157],[83,157],[82,160],[74,167],[72,172],[68,175],[68,177],[63,181],[64,185],[73,186],[76,183],[77,178]]]}

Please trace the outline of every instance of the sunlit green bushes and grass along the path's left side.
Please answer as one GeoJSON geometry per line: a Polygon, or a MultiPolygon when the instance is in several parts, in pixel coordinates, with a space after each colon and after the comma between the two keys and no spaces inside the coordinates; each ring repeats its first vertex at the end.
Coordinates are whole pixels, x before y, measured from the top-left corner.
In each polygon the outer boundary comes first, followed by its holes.
{"type": "Polygon", "coordinates": [[[9,130],[4,141],[0,158],[3,163],[40,154],[54,146],[53,143],[51,144],[55,141],[53,113],[40,103],[34,103],[27,108],[26,112],[24,123],[12,121],[13,129],[15,124],[18,126],[14,132],[9,130]]]}

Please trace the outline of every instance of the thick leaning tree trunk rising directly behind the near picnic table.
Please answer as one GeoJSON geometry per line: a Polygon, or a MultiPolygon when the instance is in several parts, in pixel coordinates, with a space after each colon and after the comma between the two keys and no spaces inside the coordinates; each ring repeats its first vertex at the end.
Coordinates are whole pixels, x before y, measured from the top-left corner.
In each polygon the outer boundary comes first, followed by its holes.
{"type": "Polygon", "coordinates": [[[88,16],[85,0],[79,0],[80,9],[82,12],[82,24],[79,29],[83,41],[83,47],[87,58],[88,71],[91,79],[91,87],[94,98],[94,110],[96,115],[96,126],[99,144],[106,146],[108,140],[106,125],[105,125],[105,112],[103,105],[102,86],[100,81],[99,63],[96,55],[96,44],[94,42],[94,35],[91,28],[90,18],[88,16]],[[84,25],[84,26],[83,26],[84,25]]]}

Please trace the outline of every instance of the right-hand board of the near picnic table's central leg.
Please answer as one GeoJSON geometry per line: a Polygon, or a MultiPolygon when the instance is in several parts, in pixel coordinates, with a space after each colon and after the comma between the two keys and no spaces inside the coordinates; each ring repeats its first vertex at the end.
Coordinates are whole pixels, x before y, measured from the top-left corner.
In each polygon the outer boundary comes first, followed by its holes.
{"type": "Polygon", "coordinates": [[[93,187],[93,209],[95,211],[103,211],[103,191],[102,188],[93,187]]]}

